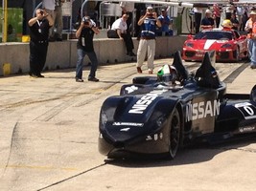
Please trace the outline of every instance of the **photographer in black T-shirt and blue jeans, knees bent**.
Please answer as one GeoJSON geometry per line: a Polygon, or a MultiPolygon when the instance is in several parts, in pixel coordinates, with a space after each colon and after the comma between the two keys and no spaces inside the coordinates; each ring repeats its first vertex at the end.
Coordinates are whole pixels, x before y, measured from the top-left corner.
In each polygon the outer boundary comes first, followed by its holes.
{"type": "Polygon", "coordinates": [[[98,59],[97,55],[94,52],[93,47],[93,36],[94,33],[98,34],[100,31],[96,27],[95,22],[90,19],[89,16],[84,16],[81,20],[81,26],[79,30],[76,32],[76,37],[79,38],[78,41],[78,62],[76,69],[76,81],[83,82],[82,79],[82,62],[85,55],[88,55],[91,61],[91,70],[88,75],[89,81],[99,81],[98,78],[95,77],[97,67],[98,67],[98,59]]]}

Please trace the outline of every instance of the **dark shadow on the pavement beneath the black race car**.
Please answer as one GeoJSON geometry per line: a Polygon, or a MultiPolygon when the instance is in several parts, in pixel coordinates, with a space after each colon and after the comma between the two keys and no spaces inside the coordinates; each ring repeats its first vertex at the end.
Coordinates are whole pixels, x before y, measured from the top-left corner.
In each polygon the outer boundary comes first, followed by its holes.
{"type": "Polygon", "coordinates": [[[170,165],[184,165],[205,162],[213,159],[222,152],[239,150],[242,152],[256,153],[255,149],[244,148],[256,142],[256,135],[242,138],[232,138],[218,144],[195,143],[194,145],[181,148],[176,154],[175,159],[105,159],[106,164],[117,165],[128,168],[147,168],[170,165]]]}

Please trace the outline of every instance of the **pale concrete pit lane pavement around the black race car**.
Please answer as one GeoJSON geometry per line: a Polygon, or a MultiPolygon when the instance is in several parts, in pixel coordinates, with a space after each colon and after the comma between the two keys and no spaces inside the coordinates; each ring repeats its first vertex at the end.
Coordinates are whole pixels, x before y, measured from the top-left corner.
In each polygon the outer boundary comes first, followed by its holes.
{"type": "MultiPolygon", "coordinates": [[[[156,60],[155,68],[165,63],[172,60],[156,60]]],[[[229,93],[249,93],[256,82],[256,70],[243,63],[216,68],[229,93]]],[[[253,137],[184,149],[174,160],[105,163],[97,145],[101,105],[139,74],[135,63],[101,66],[100,82],[77,83],[74,71],[0,78],[0,190],[255,190],[253,137]]]]}

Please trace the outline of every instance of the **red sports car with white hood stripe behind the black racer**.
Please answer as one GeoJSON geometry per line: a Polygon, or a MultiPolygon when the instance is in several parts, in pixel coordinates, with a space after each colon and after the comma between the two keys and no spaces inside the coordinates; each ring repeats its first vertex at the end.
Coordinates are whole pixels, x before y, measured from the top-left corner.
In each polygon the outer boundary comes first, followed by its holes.
{"type": "Polygon", "coordinates": [[[204,30],[194,37],[189,34],[183,44],[185,61],[201,61],[204,53],[215,51],[216,61],[237,62],[247,57],[247,39],[234,30],[204,30]]]}

